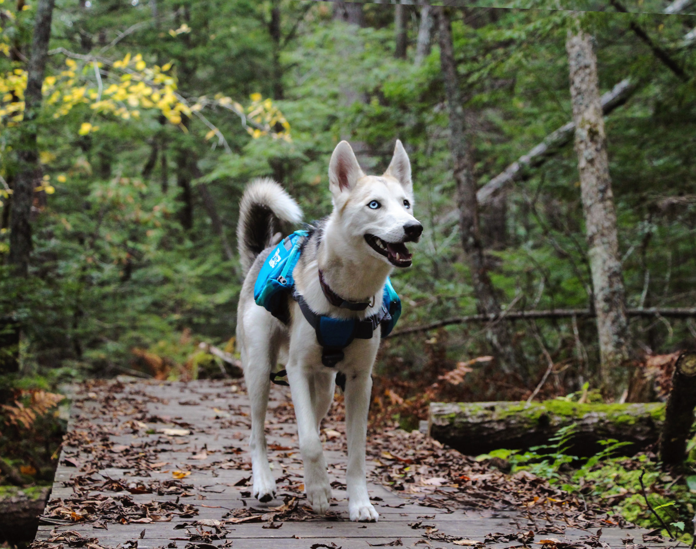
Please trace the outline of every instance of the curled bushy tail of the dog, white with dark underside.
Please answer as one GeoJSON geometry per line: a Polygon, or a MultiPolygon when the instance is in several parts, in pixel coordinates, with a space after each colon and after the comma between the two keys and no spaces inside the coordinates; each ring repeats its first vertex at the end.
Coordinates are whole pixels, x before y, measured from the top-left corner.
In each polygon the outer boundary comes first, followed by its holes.
{"type": "Polygon", "coordinates": [[[237,249],[244,275],[256,256],[274,244],[283,223],[302,221],[302,210],[282,186],[268,177],[246,186],[239,204],[237,249]]]}

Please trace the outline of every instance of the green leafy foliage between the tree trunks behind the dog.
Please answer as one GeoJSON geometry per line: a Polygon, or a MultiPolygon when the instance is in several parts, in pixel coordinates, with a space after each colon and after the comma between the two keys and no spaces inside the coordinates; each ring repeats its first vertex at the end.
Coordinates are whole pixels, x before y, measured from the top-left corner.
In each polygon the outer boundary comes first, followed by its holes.
{"type": "MultiPolygon", "coordinates": [[[[22,56],[31,41],[31,10],[7,9],[1,74],[26,68],[22,56]],[[11,54],[10,46],[22,55],[11,54]]],[[[373,173],[388,165],[396,137],[411,157],[415,212],[425,232],[413,267],[393,276],[404,303],[401,324],[477,312],[461,261],[436,45],[420,65],[413,63],[418,13],[413,8],[409,56],[402,60],[393,57],[393,6],[365,6],[367,24],[357,28],[335,22],[331,4],[321,2],[59,1],[49,76],[65,70],[61,47],[109,61],[104,79],[120,78],[116,61],[137,53],[146,67],[171,63],[168,74],[190,104],[221,96],[246,105],[257,92],[273,97],[290,122],[292,141],[250,138],[221,104],[206,106],[205,116],[225,136],[229,151],[216,139],[206,140],[210,128],[195,116],[177,127],[156,109],[141,109],[139,118],[129,120],[92,112],[88,104],[76,104],[57,119],[48,109],[39,134],[42,172],[49,176],[42,187],[48,190],[49,184],[55,192],[37,193],[32,276],[14,280],[0,266],[0,318],[22,326],[23,371],[70,367],[111,375],[124,367],[142,369],[133,349],[157,353],[160,342],[176,346],[187,330],[191,346],[228,341],[235,332],[240,279],[222,237],[234,247],[244,185],[252,177],[274,177],[298,198],[308,220],[324,216],[331,207],[329,156],[341,138],[361,144],[360,160],[373,173]],[[86,120],[99,130],[80,132],[86,120]]],[[[454,11],[478,184],[569,120],[566,18],[551,10],[454,11]]],[[[634,19],[690,73],[693,46],[675,45],[696,19],[600,13],[585,20],[596,35],[601,90],[629,76],[641,83],[607,119],[628,305],[684,306],[696,296],[696,100],[693,86],[631,33],[634,19]]],[[[79,61],[83,65],[90,66],[79,61]]],[[[93,75],[85,75],[94,88],[93,75]]],[[[13,139],[9,131],[0,136],[0,175],[8,186],[17,169],[13,139]]],[[[482,211],[482,239],[501,303],[518,299],[515,306],[527,309],[589,306],[592,280],[577,180],[568,147],[516,184],[503,212],[482,211]]],[[[10,195],[1,181],[0,192],[4,260],[10,195]]],[[[554,362],[565,368],[541,396],[572,393],[569,399],[579,400],[583,383],[594,381],[599,359],[594,322],[579,319],[576,329],[571,321],[538,326],[554,362]]],[[[683,321],[637,320],[632,327],[656,353],[693,342],[696,329],[683,321]]],[[[525,374],[539,379],[546,365],[537,341],[527,324],[512,329],[525,374]]],[[[381,372],[404,380],[425,372],[434,381],[452,363],[491,353],[478,327],[438,333],[435,340],[446,344],[437,357],[423,343],[433,337],[387,342],[381,372]]],[[[196,349],[160,351],[160,358],[183,367],[196,349]]],[[[519,399],[530,390],[518,381],[491,383],[488,367],[467,379],[460,399],[519,399]]],[[[598,399],[588,390],[583,401],[598,399]]]]}

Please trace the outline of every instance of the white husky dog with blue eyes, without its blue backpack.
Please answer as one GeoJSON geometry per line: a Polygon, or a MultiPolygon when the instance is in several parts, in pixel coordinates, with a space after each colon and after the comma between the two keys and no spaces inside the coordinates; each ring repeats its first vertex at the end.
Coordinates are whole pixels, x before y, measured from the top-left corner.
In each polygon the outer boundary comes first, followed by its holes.
{"type": "MultiPolygon", "coordinates": [[[[392,161],[381,177],[365,175],[351,146],[341,141],[331,156],[329,189],[333,212],[306,238],[293,271],[295,293],[303,296],[309,308],[319,315],[367,318],[379,311],[383,287],[393,268],[411,265],[411,253],[405,243],[418,241],[422,232],[422,225],[413,217],[411,164],[401,141],[396,142],[392,161]],[[370,304],[362,311],[332,305],[322,283],[328,286],[329,295],[370,304]]],[[[297,203],[269,179],[251,182],[239,207],[237,239],[246,278],[237,309],[237,342],[251,400],[253,495],[261,502],[275,496],[264,420],[269,375],[280,358],[287,361],[307,499],[315,513],[324,515],[329,510],[331,486],[319,425],[333,401],[338,371],[346,376],[349,514],[351,520],[372,522],[378,515],[367,495],[365,437],[372,390],[370,374],[379,348],[379,329],[371,339],[351,342],[344,349],[345,358],[335,367],[326,367],[315,330],[296,301],[288,298],[287,325],[254,302],[255,280],[280,239],[278,231],[283,223],[299,223],[301,217],[297,203]]]]}

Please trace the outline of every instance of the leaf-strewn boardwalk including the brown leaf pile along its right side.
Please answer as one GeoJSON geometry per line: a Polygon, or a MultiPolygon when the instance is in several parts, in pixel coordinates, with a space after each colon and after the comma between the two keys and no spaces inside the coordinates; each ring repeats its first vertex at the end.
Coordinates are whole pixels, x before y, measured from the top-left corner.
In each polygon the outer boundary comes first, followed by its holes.
{"type": "Polygon", "coordinates": [[[372,430],[367,442],[380,520],[352,523],[340,397],[322,424],[333,488],[325,517],[306,506],[287,388],[271,392],[267,436],[278,494],[267,504],[251,498],[243,383],[121,378],[77,385],[71,397],[34,549],[665,546],[659,532],[640,530],[528,471],[505,474],[418,431],[388,427],[372,430]]]}

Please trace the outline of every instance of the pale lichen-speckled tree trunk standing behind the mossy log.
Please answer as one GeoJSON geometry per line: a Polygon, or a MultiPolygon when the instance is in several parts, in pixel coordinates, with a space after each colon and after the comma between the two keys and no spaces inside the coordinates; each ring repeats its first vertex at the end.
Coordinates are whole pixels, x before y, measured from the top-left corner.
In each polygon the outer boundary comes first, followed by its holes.
{"type": "Polygon", "coordinates": [[[622,367],[630,356],[626,292],[599,97],[597,59],[592,49],[592,36],[583,31],[578,14],[572,16],[566,49],[575,150],[599,332],[600,375],[604,390],[610,396],[626,383],[626,372],[622,367]]]}

